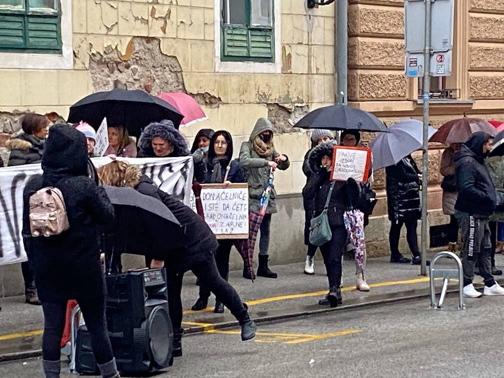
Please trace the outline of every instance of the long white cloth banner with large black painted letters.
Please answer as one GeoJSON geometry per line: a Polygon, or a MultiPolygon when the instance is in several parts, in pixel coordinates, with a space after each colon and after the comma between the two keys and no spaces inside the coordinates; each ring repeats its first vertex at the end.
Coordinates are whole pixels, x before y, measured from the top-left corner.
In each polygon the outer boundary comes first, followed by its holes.
{"type": "MultiPolygon", "coordinates": [[[[193,157],[118,158],[137,164],[164,192],[190,205],[193,183],[193,157]]],[[[91,159],[98,168],[111,162],[108,157],[91,159]]],[[[23,189],[28,179],[42,173],[40,164],[0,168],[0,265],[26,261],[21,230],[23,189]]],[[[72,225],[70,225],[72,227],[72,225]]]]}

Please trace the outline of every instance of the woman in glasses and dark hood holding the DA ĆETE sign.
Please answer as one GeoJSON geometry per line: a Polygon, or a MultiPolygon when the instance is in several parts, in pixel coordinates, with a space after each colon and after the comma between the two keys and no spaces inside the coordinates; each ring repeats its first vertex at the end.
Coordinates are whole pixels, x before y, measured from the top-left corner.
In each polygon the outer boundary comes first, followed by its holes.
{"type": "MultiPolygon", "coordinates": [[[[227,131],[220,130],[213,134],[210,139],[207,178],[205,183],[243,183],[246,182],[243,166],[233,160],[233,139],[227,131]]],[[[227,281],[229,276],[229,254],[235,240],[219,240],[215,260],[220,276],[227,281]]],[[[210,289],[200,283],[200,297],[192,307],[193,311],[201,311],[207,308],[210,289]]],[[[215,313],[224,312],[224,304],[219,298],[215,299],[215,313]]]]}

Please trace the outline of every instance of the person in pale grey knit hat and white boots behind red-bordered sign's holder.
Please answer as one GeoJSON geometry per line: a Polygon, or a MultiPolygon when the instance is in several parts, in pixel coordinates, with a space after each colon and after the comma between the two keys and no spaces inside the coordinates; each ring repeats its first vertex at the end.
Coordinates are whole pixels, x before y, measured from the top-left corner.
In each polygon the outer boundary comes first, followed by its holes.
{"type": "Polygon", "coordinates": [[[311,148],[304,155],[303,161],[303,173],[306,176],[306,184],[303,187],[303,208],[304,208],[304,245],[308,247],[306,252],[306,261],[304,263],[304,274],[312,275],[315,274],[314,269],[314,257],[317,252],[317,245],[313,245],[310,243],[309,234],[310,234],[310,221],[313,216],[313,197],[306,196],[305,189],[308,185],[308,180],[311,176],[311,169],[308,164],[308,157],[313,148],[317,147],[322,143],[329,142],[333,139],[333,132],[331,130],[323,130],[323,129],[315,129],[311,131],[311,148]]]}

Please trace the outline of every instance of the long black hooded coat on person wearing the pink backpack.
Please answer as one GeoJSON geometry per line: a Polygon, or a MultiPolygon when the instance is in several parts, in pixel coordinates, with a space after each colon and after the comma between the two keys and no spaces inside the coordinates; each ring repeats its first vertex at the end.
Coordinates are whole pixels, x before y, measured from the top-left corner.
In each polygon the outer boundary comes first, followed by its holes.
{"type": "Polygon", "coordinates": [[[86,137],[68,125],[49,131],[42,175],[23,191],[23,236],[42,301],[96,298],[105,293],[101,272],[99,224],[113,221],[113,207],[102,187],[88,177],[86,137]],[[61,190],[70,229],[31,237],[29,198],[43,186],[61,190]]]}

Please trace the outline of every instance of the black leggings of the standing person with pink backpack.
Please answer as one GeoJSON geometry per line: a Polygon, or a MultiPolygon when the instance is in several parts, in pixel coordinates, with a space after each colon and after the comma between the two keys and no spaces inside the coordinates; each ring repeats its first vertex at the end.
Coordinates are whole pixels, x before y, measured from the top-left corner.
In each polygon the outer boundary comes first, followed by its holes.
{"type": "MultiPolygon", "coordinates": [[[[91,345],[96,362],[102,365],[113,359],[112,346],[108,338],[105,320],[105,298],[77,299],[81,307],[86,327],[91,335],[91,345]]],[[[60,343],[65,328],[67,301],[43,302],[44,335],[42,337],[42,355],[44,360],[59,361],[60,343]]]]}

